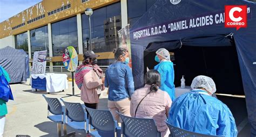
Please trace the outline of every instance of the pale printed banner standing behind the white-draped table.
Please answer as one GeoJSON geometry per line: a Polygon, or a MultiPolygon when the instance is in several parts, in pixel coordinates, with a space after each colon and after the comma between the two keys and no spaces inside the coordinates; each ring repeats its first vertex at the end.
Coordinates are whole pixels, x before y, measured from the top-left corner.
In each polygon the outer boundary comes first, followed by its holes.
{"type": "Polygon", "coordinates": [[[32,74],[45,74],[47,51],[34,52],[32,74]]]}

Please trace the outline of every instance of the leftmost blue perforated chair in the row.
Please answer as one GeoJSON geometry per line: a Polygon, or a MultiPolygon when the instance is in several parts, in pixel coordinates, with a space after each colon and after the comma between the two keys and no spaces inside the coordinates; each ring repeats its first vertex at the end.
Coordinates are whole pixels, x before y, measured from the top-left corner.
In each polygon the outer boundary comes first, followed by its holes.
{"type": "Polygon", "coordinates": [[[46,100],[46,102],[48,104],[48,107],[47,107],[47,109],[48,109],[47,118],[50,119],[51,121],[57,123],[58,136],[62,136],[62,127],[65,128],[63,126],[63,122],[64,122],[64,107],[59,102],[58,98],[49,98],[49,97],[46,97],[45,95],[43,95],[43,97],[45,98],[45,100],[46,100]],[[51,113],[51,115],[50,115],[50,113],[51,113]]]}

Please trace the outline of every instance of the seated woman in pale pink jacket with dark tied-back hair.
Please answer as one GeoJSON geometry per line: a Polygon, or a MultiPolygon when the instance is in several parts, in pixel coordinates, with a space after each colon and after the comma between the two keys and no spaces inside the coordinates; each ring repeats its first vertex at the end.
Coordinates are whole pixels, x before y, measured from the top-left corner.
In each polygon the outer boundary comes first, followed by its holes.
{"type": "Polygon", "coordinates": [[[131,116],[153,118],[161,136],[169,136],[165,123],[169,116],[172,100],[167,92],[159,89],[161,76],[157,70],[150,70],[145,76],[144,88],[134,91],[131,98],[131,116]]]}

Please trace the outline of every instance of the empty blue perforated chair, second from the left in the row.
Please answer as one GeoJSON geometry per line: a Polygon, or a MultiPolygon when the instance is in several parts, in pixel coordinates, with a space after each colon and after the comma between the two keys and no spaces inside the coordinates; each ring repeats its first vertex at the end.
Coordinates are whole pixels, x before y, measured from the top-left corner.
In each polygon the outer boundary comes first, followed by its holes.
{"type": "MultiPolygon", "coordinates": [[[[68,125],[74,129],[83,130],[85,133],[88,131],[87,126],[87,114],[85,108],[80,103],[65,102],[60,98],[65,105],[65,120],[64,125],[68,125]],[[86,124],[86,125],[85,125],[86,124]]],[[[66,129],[64,131],[66,133],[66,129]]],[[[68,135],[75,135],[75,132],[71,132],[68,135]]]]}

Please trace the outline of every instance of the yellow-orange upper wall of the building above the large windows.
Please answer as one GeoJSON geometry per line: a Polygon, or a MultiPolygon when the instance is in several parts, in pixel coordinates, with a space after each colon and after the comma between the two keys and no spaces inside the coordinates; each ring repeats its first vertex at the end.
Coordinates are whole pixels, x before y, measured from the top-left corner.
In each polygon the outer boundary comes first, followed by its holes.
{"type": "Polygon", "coordinates": [[[97,9],[114,2],[119,2],[119,0],[91,0],[84,3],[82,3],[82,0],[43,0],[42,2],[39,2],[38,4],[33,5],[30,8],[0,23],[0,39],[10,35],[23,33],[71,16],[76,16],[78,13],[83,13],[86,8],[97,9]],[[48,12],[68,4],[71,4],[71,8],[48,16],[48,12]],[[45,15],[45,18],[39,19],[30,24],[27,23],[29,20],[42,15],[45,15]],[[12,30],[12,27],[21,25],[23,23],[25,23],[24,26],[12,30]]]}

